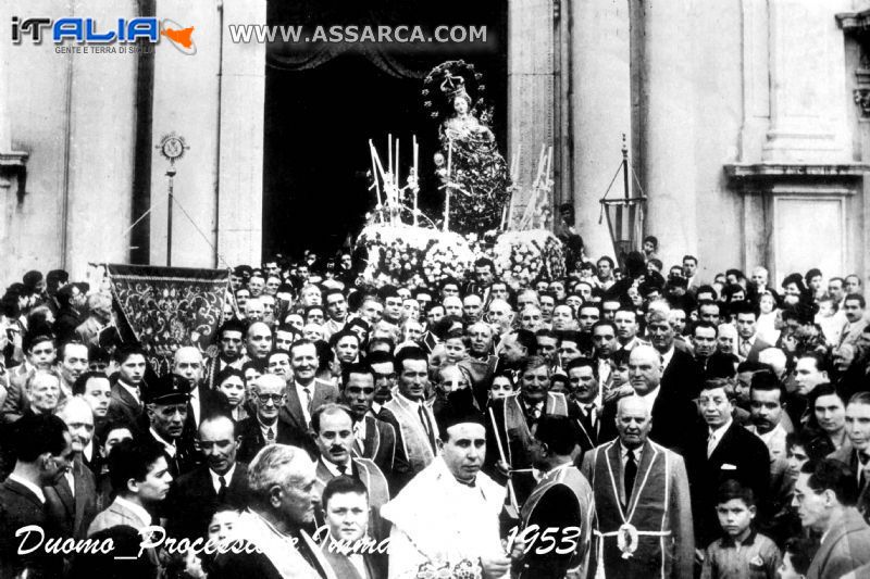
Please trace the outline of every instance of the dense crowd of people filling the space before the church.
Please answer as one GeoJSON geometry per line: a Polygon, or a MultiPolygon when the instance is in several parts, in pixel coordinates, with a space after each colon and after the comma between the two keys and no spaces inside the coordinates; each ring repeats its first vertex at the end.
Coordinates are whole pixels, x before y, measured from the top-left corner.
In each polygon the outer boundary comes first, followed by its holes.
{"type": "Polygon", "coordinates": [[[870,577],[859,276],[351,257],[236,267],[163,376],[103,288],[10,286],[0,577],[870,577]]]}

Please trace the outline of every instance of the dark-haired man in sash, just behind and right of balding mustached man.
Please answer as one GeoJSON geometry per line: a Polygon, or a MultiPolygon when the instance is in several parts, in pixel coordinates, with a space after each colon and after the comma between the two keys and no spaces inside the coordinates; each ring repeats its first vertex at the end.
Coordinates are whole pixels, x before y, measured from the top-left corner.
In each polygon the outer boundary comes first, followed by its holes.
{"type": "Polygon", "coordinates": [[[372,414],[375,373],[366,364],[350,364],[341,372],[341,402],[353,413],[353,455],[371,458],[384,473],[390,488],[394,470],[408,473],[405,456],[396,453],[396,429],[372,414]]]}

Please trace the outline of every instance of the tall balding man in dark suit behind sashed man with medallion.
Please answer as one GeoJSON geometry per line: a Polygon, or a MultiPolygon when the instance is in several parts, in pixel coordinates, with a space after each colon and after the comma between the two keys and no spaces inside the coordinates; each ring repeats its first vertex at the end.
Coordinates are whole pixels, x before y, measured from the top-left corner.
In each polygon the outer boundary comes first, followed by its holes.
{"type": "MultiPolygon", "coordinates": [[[[687,429],[697,423],[697,408],[676,385],[664,385],[661,380],[662,360],[651,345],[636,345],[629,355],[629,382],[637,395],[651,407],[652,429],[649,438],[683,454],[686,448],[687,429]]],[[[602,424],[614,424],[617,401],[605,404],[602,424]]]]}

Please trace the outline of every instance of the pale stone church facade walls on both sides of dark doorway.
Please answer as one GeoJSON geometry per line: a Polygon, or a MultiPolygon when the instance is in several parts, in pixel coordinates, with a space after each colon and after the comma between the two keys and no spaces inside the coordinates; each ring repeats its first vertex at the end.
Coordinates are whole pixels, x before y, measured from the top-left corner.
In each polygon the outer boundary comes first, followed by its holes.
{"type": "MultiPolygon", "coordinates": [[[[759,264],[775,280],[812,266],[825,277],[870,272],[870,2],[500,7],[505,156],[554,146],[554,203],[573,204],[591,257],[613,253],[599,201],[625,135],[632,194],[646,197],[644,231],[666,266],[691,253],[703,278],[759,264]]],[[[277,235],[263,228],[269,49],[233,41],[228,27],[274,24],[269,14],[265,0],[0,4],[8,280],[165,264],[170,179],[173,265],[261,260],[264,235],[277,235]],[[156,16],[194,26],[194,46],[64,53],[71,42],[13,41],[10,23],[41,16],[156,16]],[[160,147],[172,135],[186,144],[174,164],[160,147]]],[[[531,174],[536,154],[519,159],[531,174]]]]}

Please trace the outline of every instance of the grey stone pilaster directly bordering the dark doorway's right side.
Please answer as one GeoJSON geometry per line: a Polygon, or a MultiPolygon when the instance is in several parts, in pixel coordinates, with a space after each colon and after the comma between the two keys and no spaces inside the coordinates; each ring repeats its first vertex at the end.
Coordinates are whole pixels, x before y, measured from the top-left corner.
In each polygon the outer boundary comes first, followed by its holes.
{"type": "Polygon", "coordinates": [[[552,0],[508,2],[508,156],[520,150],[514,223],[529,202],[540,146],[554,144],[552,0]]]}

